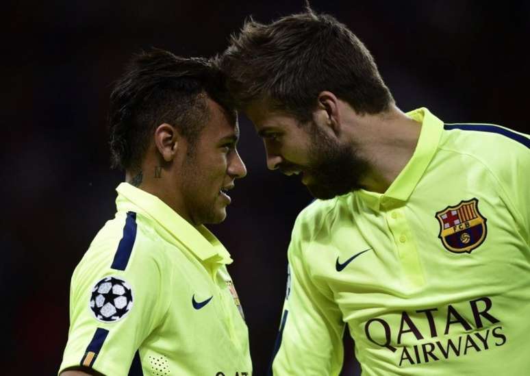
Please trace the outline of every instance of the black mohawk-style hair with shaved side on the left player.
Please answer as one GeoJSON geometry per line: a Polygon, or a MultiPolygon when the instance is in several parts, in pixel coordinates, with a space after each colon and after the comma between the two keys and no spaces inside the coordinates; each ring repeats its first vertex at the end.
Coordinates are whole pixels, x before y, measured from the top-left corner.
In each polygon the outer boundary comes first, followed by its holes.
{"type": "Polygon", "coordinates": [[[138,171],[162,123],[176,127],[193,148],[210,116],[206,97],[234,113],[225,85],[212,60],[162,49],[134,55],[110,95],[112,166],[138,171]]]}

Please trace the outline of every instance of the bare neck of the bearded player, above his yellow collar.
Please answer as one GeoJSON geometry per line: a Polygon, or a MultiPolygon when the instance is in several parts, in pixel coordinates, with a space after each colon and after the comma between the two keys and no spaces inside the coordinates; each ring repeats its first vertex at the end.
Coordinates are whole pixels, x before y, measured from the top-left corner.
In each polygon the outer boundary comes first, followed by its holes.
{"type": "Polygon", "coordinates": [[[360,119],[355,144],[359,156],[368,162],[361,184],[366,190],[384,193],[412,158],[421,125],[395,106],[384,114],[360,119]]]}

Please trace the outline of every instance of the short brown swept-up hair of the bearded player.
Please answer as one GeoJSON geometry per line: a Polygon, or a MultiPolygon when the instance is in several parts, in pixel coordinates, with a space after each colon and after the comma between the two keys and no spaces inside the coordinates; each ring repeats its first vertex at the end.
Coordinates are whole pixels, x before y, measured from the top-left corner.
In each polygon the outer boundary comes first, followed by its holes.
{"type": "Polygon", "coordinates": [[[310,120],[323,90],[359,114],[377,114],[394,103],[368,49],[336,18],[309,5],[264,25],[245,21],[219,57],[238,107],[271,101],[299,121],[310,120]]]}

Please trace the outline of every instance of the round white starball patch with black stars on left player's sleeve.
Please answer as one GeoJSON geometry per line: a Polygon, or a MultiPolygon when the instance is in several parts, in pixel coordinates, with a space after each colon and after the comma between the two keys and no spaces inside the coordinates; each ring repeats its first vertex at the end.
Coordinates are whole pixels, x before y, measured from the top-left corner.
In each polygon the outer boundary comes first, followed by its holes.
{"type": "Polygon", "coordinates": [[[99,281],[90,295],[90,310],[103,323],[121,320],[132,308],[131,287],[118,277],[105,277],[99,281]]]}

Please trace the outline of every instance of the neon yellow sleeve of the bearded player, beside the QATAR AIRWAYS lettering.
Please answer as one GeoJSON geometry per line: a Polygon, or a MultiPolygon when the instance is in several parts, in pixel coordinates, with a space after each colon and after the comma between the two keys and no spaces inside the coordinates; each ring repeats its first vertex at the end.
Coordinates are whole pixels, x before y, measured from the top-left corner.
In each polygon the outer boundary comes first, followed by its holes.
{"type": "Polygon", "coordinates": [[[273,375],[338,375],[344,351],[342,315],[330,294],[312,280],[303,258],[304,247],[307,242],[301,240],[300,227],[295,224],[273,375]]]}

